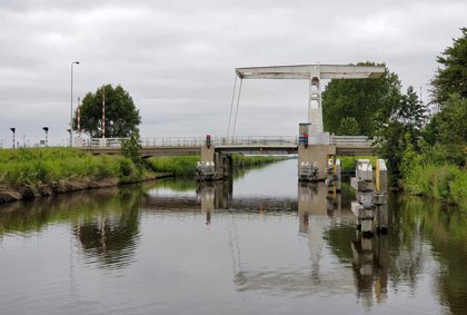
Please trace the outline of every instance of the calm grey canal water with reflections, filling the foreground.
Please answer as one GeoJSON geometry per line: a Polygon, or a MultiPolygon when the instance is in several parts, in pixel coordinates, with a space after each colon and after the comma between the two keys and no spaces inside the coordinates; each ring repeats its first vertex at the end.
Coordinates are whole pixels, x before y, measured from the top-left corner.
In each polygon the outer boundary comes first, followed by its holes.
{"type": "Polygon", "coordinates": [[[0,314],[467,314],[467,218],[390,196],[361,238],[296,160],[0,206],[0,314]]]}

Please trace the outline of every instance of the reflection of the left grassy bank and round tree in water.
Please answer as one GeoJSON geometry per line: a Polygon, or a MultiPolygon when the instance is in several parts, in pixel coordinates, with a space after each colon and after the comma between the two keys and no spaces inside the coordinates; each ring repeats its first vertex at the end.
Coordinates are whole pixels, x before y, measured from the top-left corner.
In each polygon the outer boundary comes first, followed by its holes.
{"type": "MultiPolygon", "coordinates": [[[[139,243],[142,186],[80,191],[0,207],[0,237],[47,233],[69,223],[77,252],[92,266],[118,269],[133,260],[139,243]]],[[[74,249],[72,249],[74,250],[74,249]]]]}

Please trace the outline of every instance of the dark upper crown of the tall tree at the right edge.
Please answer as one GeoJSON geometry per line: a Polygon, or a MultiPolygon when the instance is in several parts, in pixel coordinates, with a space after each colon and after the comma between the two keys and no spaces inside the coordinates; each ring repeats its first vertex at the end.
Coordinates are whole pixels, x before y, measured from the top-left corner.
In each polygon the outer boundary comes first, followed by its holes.
{"type": "Polygon", "coordinates": [[[438,68],[431,80],[431,98],[440,108],[451,93],[467,98],[467,28],[461,28],[460,31],[463,36],[454,39],[453,46],[437,57],[437,61],[444,67],[438,68]]]}

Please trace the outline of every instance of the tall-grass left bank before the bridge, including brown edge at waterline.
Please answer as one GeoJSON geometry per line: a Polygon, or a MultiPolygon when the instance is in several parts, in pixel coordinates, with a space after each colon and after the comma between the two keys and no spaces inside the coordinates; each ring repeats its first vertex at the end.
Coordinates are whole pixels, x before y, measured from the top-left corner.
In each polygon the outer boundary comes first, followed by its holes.
{"type": "Polygon", "coordinates": [[[137,183],[156,177],[130,158],[71,148],[0,150],[0,203],[137,183]]]}

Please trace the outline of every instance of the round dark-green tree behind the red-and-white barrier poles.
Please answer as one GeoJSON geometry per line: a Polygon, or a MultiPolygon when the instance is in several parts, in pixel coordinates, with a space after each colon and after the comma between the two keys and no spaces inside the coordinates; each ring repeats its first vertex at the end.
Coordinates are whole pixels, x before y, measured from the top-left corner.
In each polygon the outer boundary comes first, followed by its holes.
{"type": "MultiPolygon", "coordinates": [[[[95,93],[88,92],[80,108],[80,127],[91,138],[102,137],[102,98],[106,100],[106,137],[125,138],[138,129],[141,122],[139,110],[130,95],[121,86],[113,88],[106,85],[95,93]]],[[[73,117],[73,129],[77,129],[77,111],[73,117]]]]}

